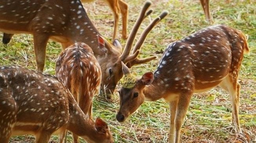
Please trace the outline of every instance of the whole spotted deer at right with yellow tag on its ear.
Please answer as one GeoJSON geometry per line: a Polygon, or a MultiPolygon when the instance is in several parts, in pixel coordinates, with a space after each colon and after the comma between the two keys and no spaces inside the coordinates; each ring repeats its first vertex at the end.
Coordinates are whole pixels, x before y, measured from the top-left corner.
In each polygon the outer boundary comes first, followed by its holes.
{"type": "MultiPolygon", "coordinates": [[[[144,100],[164,98],[169,102],[171,113],[169,143],[178,143],[192,94],[220,86],[229,92],[232,120],[236,132],[241,132],[238,72],[246,52],[249,48],[245,36],[227,25],[210,26],[171,43],[154,74],[144,73],[133,87],[120,89],[120,109],[116,119],[123,122],[144,100]]],[[[125,64],[123,74],[131,74],[125,64]]]]}

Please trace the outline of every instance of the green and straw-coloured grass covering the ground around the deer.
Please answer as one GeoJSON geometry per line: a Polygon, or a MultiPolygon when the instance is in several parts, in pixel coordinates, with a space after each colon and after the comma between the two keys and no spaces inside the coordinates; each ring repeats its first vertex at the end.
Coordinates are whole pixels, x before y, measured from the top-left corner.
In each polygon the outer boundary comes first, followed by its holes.
{"type": "MultiPolygon", "coordinates": [[[[126,0],[129,4],[128,31],[138,16],[143,1],[126,0]]],[[[85,7],[98,30],[107,39],[111,39],[113,32],[113,17],[109,7],[102,1],[96,4],[86,4],[85,7]]],[[[240,123],[247,139],[241,138],[231,125],[231,102],[229,95],[220,88],[206,93],[195,94],[191,100],[189,111],[182,127],[182,143],[241,143],[246,140],[256,142],[256,1],[211,0],[211,13],[214,24],[225,23],[242,30],[248,37],[250,54],[244,56],[239,82],[240,95],[240,123]]],[[[163,9],[169,15],[162,20],[148,35],[141,57],[157,55],[157,60],[147,64],[134,66],[132,71],[137,76],[145,71],[153,71],[162,54],[156,54],[165,49],[172,41],[181,39],[210,24],[205,21],[202,6],[199,0],[155,0],[152,8],[154,13],[145,20],[139,33],[142,32],[150,20],[153,20],[163,9]]],[[[118,37],[121,37],[121,23],[118,37]]],[[[2,37],[2,34],[1,36],[2,37]]],[[[125,40],[121,40],[124,44],[125,40]]],[[[49,42],[47,45],[47,61],[45,72],[54,74],[55,62],[62,48],[58,43],[49,42]]],[[[15,35],[11,43],[5,46],[0,44],[0,65],[16,64],[35,69],[33,38],[30,35],[15,35]]],[[[169,106],[163,100],[147,102],[126,122],[119,123],[115,116],[119,108],[118,94],[113,95],[112,103],[107,103],[96,96],[93,102],[94,118],[106,120],[111,127],[116,143],[165,143],[169,134],[169,106]]],[[[57,142],[57,136],[51,138],[57,142]]],[[[11,139],[11,142],[33,142],[33,136],[20,136],[11,139]]],[[[72,142],[71,134],[68,142],[72,142]]],[[[81,139],[84,143],[84,140],[81,139]]]]}

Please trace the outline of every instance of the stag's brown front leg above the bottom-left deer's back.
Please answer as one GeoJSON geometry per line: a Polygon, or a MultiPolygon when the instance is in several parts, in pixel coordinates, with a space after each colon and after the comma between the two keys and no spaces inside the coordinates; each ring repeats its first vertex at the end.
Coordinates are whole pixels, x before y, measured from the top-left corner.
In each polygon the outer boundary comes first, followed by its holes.
{"type": "Polygon", "coordinates": [[[36,55],[38,71],[44,70],[46,45],[48,39],[49,37],[44,34],[34,34],[34,53],[36,55]]]}

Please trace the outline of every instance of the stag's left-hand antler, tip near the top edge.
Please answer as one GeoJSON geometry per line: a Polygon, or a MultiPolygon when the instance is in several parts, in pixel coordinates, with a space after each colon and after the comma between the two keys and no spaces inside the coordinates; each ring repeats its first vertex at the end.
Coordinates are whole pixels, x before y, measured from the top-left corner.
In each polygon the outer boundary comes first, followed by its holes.
{"type": "Polygon", "coordinates": [[[136,20],[136,23],[134,24],[133,29],[131,30],[131,33],[129,35],[129,38],[127,39],[127,42],[126,42],[126,45],[125,45],[125,49],[124,49],[122,55],[120,56],[120,59],[122,61],[130,54],[131,47],[133,45],[133,41],[134,41],[134,38],[136,36],[136,33],[137,33],[137,31],[138,31],[138,29],[140,27],[140,24],[142,23],[142,21],[143,21],[143,19],[145,17],[145,13],[146,13],[146,11],[147,11],[147,9],[149,8],[150,5],[151,5],[150,1],[145,2],[144,6],[142,8],[142,11],[140,13],[140,16],[136,20]]]}

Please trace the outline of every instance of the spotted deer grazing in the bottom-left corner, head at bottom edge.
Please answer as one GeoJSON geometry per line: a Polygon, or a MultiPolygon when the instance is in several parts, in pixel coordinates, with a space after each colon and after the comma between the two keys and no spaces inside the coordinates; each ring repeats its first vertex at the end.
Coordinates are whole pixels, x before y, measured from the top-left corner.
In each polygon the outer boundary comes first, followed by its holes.
{"type": "Polygon", "coordinates": [[[48,143],[51,134],[62,137],[65,129],[88,143],[113,143],[107,123],[86,116],[56,77],[19,66],[0,67],[1,143],[23,134],[48,143]]]}

